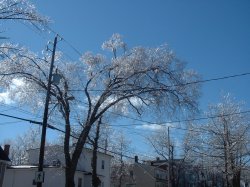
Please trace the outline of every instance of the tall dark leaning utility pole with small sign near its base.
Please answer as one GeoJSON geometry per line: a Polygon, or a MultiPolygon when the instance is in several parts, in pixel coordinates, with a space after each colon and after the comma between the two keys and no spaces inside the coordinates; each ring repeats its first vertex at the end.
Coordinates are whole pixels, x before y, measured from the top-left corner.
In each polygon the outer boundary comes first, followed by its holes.
{"type": "Polygon", "coordinates": [[[50,88],[51,88],[51,83],[52,83],[52,73],[53,73],[54,60],[55,60],[56,44],[57,44],[57,36],[55,37],[54,43],[53,43],[49,79],[48,79],[48,86],[47,86],[47,95],[46,95],[44,114],[43,114],[42,135],[41,135],[41,145],[40,145],[40,154],[39,154],[39,166],[38,166],[38,172],[36,173],[36,179],[35,179],[37,182],[37,187],[42,187],[42,183],[44,181],[44,172],[43,172],[44,148],[45,148],[46,128],[48,125],[47,121],[48,121],[48,111],[49,111],[50,88]]]}

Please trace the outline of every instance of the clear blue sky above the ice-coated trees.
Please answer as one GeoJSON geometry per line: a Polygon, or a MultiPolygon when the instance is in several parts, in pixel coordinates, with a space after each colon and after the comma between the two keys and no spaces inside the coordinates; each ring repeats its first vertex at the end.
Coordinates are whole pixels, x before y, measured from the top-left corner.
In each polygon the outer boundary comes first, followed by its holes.
{"type": "MultiPolygon", "coordinates": [[[[180,59],[187,62],[187,67],[196,70],[203,79],[250,72],[248,0],[32,2],[40,13],[51,18],[50,27],[80,52],[102,52],[102,42],[113,33],[120,33],[128,47],[156,47],[167,43],[180,59]]],[[[20,23],[2,22],[1,27],[5,30],[1,34],[10,37],[11,42],[36,52],[41,52],[47,41],[54,37],[54,33],[39,33],[20,23]]],[[[58,46],[71,59],[79,59],[66,43],[61,42],[58,46]]],[[[250,76],[243,76],[204,83],[201,109],[205,111],[208,104],[218,102],[223,92],[232,93],[237,100],[246,102],[246,109],[250,108],[249,82],[250,76]]],[[[0,111],[4,110],[6,106],[0,106],[0,111]]],[[[28,117],[14,109],[6,112],[28,117]]],[[[20,124],[0,124],[0,142],[23,132],[25,128],[20,124]]],[[[49,136],[53,137],[53,134],[49,136]]],[[[138,140],[135,149],[142,145],[143,142],[138,140]]]]}

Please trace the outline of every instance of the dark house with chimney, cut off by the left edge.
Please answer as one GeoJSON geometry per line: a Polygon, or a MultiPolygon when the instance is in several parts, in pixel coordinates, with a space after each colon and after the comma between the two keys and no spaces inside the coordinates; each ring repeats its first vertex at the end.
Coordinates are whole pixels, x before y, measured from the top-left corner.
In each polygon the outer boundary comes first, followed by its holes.
{"type": "Polygon", "coordinates": [[[7,165],[10,164],[9,159],[9,145],[4,146],[4,150],[0,146],[0,187],[3,185],[5,170],[7,165]]]}

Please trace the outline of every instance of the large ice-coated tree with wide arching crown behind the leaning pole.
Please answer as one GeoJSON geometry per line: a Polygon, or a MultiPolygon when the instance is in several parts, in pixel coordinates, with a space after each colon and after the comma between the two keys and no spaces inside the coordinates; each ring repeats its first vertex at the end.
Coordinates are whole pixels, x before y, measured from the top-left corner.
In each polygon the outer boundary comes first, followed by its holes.
{"type": "MultiPolygon", "coordinates": [[[[190,82],[197,81],[199,76],[194,71],[185,70],[184,64],[167,46],[135,47],[123,51],[125,46],[121,36],[114,34],[103,44],[104,49],[112,51],[113,58],[108,60],[102,55],[87,52],[81,59],[82,64],[58,64],[62,79],[59,85],[52,86],[51,103],[57,106],[65,123],[66,187],[74,186],[78,159],[91,127],[107,111],[134,111],[140,115],[145,110],[157,108],[173,114],[197,107],[199,86],[190,82]],[[84,107],[81,114],[79,103],[84,107]],[[81,130],[70,154],[72,110],[79,114],[81,130]]],[[[33,105],[32,101],[36,101],[36,105],[41,105],[47,89],[47,59],[27,51],[11,54],[0,63],[0,84],[11,90],[13,80],[22,80],[22,89],[15,90],[19,92],[19,101],[33,105]]]]}

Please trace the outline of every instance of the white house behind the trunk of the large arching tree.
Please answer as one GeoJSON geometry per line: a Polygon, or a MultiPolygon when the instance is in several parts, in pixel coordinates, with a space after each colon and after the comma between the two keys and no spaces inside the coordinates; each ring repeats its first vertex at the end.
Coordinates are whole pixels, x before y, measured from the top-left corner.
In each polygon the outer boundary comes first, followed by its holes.
{"type": "MultiPolygon", "coordinates": [[[[98,152],[97,174],[101,187],[110,187],[110,161],[112,156],[98,152]]],[[[39,159],[39,149],[28,150],[28,164],[11,166],[6,169],[3,187],[34,187],[39,159]]],[[[65,161],[63,147],[54,145],[45,148],[45,187],[63,187],[65,184],[65,161]]],[[[76,187],[90,187],[92,179],[92,150],[84,148],[75,174],[76,187]]]]}

